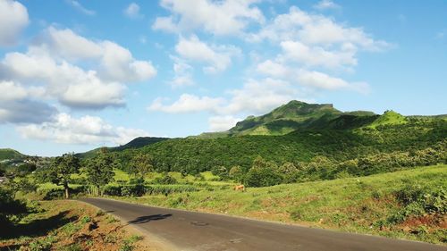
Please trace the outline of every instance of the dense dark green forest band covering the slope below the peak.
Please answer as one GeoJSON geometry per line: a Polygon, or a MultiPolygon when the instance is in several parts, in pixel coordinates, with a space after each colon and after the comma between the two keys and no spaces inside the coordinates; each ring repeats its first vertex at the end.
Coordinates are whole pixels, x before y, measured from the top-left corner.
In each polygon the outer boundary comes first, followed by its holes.
{"type": "MultiPolygon", "coordinates": [[[[277,165],[293,163],[297,167],[325,159],[336,171],[367,175],[445,163],[446,135],[447,121],[415,119],[356,130],[297,130],[283,136],[179,138],[114,154],[124,171],[129,170],[135,155],[146,153],[157,172],[194,175],[219,168],[229,172],[233,166],[240,166],[246,173],[261,156],[277,165]]],[[[325,168],[317,172],[309,179],[333,179],[337,175],[333,171],[324,174],[329,172],[325,168]]]]}

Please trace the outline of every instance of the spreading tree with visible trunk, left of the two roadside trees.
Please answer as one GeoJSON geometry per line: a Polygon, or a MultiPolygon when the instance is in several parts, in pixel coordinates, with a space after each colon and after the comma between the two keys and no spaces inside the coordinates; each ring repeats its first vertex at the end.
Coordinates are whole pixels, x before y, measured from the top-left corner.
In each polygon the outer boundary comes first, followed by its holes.
{"type": "Polygon", "coordinates": [[[80,159],[73,153],[55,157],[49,167],[42,170],[43,178],[46,181],[63,186],[65,198],[69,198],[69,186],[71,175],[80,172],[80,159]]]}

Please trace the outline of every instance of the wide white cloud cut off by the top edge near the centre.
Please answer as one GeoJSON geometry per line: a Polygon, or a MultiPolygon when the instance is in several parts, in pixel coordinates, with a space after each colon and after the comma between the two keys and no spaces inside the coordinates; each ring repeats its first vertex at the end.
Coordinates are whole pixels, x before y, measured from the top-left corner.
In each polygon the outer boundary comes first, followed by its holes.
{"type": "Polygon", "coordinates": [[[240,34],[250,22],[264,22],[264,15],[253,4],[257,0],[162,0],[161,6],[172,15],[158,17],[153,29],[168,32],[204,29],[215,35],[240,34]]]}

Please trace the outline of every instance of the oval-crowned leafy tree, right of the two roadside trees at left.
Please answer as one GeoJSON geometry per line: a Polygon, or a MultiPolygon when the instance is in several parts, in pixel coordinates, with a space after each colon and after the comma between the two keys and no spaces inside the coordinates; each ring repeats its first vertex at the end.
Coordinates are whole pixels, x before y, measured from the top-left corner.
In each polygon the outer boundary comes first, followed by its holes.
{"type": "Polygon", "coordinates": [[[96,186],[98,191],[114,180],[114,160],[105,149],[102,148],[100,154],[90,159],[85,166],[89,184],[96,186]]]}

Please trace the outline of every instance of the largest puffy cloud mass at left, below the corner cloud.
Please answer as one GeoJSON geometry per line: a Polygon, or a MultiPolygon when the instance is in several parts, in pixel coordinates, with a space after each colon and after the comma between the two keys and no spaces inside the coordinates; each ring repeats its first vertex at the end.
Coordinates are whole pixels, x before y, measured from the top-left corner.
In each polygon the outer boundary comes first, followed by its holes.
{"type": "Polygon", "coordinates": [[[0,79],[45,88],[48,97],[72,108],[102,109],[124,105],[125,82],[150,79],[150,62],[132,57],[111,41],[92,41],[71,29],[50,27],[26,53],[8,53],[0,62],[0,79]],[[84,70],[76,63],[98,65],[84,70]]]}

